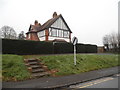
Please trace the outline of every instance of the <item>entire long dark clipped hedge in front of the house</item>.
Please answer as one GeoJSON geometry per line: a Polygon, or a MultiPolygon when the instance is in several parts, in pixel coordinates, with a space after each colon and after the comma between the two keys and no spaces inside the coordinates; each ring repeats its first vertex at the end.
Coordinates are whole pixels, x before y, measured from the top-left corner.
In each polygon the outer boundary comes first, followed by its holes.
{"type": "MultiPolygon", "coordinates": [[[[76,49],[77,53],[97,53],[96,45],[78,43],[76,49]]],[[[2,53],[20,55],[73,53],[73,44],[2,39],[2,53]]]]}

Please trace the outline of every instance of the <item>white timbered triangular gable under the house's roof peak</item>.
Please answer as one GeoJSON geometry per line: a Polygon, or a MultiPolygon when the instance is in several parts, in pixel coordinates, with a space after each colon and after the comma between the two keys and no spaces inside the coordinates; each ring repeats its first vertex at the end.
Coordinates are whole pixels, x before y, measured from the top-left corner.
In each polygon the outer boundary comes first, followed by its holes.
{"type": "Polygon", "coordinates": [[[63,29],[63,30],[69,30],[68,26],[66,25],[65,21],[59,17],[52,25],[51,27],[63,29]]]}

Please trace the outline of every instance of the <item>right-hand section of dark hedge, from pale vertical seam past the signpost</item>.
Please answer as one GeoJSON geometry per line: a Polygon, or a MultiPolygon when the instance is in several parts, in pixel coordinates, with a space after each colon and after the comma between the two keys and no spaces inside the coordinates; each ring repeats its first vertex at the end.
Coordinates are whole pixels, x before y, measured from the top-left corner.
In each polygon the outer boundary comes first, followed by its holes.
{"type": "MultiPolygon", "coordinates": [[[[55,54],[73,53],[72,43],[55,43],[54,52],[55,54]]],[[[97,46],[91,44],[80,44],[76,45],[77,53],[97,53],[97,46]]]]}

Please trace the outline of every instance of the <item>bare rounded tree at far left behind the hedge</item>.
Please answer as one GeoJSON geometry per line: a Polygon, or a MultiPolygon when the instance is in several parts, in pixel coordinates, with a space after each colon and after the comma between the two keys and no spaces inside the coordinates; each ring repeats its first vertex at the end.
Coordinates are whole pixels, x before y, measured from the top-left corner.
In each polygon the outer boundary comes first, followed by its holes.
{"type": "Polygon", "coordinates": [[[0,33],[0,38],[16,39],[17,37],[15,30],[10,26],[3,26],[0,33]]]}

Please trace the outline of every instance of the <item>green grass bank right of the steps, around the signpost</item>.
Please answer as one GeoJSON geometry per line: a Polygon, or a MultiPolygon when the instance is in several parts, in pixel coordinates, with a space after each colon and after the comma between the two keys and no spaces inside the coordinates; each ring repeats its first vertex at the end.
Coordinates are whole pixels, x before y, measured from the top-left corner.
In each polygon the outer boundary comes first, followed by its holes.
{"type": "Polygon", "coordinates": [[[76,66],[74,66],[73,55],[25,56],[25,58],[31,57],[42,59],[42,62],[50,70],[56,71],[55,76],[78,74],[118,66],[118,55],[77,54],[76,66]]]}

